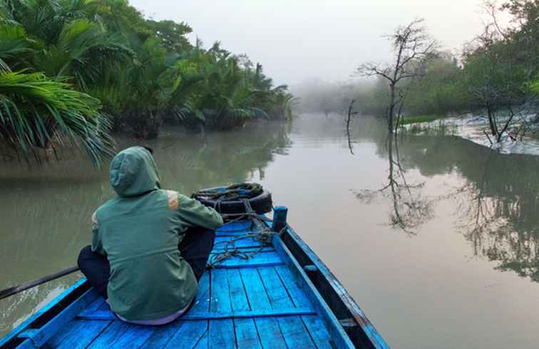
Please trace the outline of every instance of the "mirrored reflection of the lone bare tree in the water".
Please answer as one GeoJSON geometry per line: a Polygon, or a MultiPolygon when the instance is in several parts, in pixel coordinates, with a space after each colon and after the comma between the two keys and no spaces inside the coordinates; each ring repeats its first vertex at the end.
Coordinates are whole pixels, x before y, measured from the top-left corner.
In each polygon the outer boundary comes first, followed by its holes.
{"type": "Polygon", "coordinates": [[[389,225],[414,236],[416,229],[433,217],[433,203],[436,200],[427,199],[421,193],[425,182],[411,184],[406,179],[396,137],[388,136],[385,146],[389,162],[387,184],[381,189],[362,189],[355,194],[363,202],[371,202],[378,196],[391,199],[389,225]]]}

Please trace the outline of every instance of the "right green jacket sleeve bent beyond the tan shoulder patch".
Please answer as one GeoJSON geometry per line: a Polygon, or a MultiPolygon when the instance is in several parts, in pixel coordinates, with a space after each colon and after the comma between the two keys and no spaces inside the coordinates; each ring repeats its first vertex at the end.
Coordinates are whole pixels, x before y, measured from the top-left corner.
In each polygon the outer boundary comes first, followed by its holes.
{"type": "Polygon", "coordinates": [[[223,224],[221,215],[215,209],[205,207],[197,200],[182,194],[180,194],[178,213],[188,226],[202,226],[206,229],[215,230],[223,224]]]}

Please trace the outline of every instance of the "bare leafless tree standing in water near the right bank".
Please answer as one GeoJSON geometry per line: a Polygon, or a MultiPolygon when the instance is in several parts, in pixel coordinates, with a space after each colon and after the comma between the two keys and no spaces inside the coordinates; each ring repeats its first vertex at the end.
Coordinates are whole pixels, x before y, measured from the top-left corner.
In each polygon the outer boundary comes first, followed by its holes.
{"type": "Polygon", "coordinates": [[[356,71],[365,77],[379,76],[389,83],[389,104],[386,113],[389,133],[394,132],[395,114],[402,108],[406,98],[404,90],[399,90],[401,83],[421,75],[424,59],[433,55],[438,46],[428,35],[423,21],[415,19],[407,26],[397,28],[395,33],[387,37],[395,54],[393,63],[364,63],[356,71]]]}

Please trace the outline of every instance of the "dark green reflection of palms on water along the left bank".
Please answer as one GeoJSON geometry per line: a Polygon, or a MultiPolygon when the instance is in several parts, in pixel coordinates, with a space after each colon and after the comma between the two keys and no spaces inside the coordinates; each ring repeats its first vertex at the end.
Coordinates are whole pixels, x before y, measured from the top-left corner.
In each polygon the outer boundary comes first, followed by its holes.
{"type": "MultiPolygon", "coordinates": [[[[286,155],[291,125],[265,123],[236,132],[188,135],[170,129],[153,142],[163,187],[189,194],[202,187],[262,179],[276,154],[286,155]]],[[[118,147],[138,140],[118,139],[118,147]]],[[[75,264],[90,241],[89,217],[113,197],[108,170],[93,169],[74,152],[58,163],[33,166],[4,160],[0,167],[0,288],[75,264]]],[[[104,166],[107,167],[107,166],[104,166]]],[[[0,335],[68,288],[61,278],[0,301],[0,335]]]]}

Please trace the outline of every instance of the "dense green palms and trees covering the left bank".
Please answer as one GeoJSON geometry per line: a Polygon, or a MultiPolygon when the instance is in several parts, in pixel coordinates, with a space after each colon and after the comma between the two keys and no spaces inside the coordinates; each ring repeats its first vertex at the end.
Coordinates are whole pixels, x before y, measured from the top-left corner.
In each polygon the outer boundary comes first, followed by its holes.
{"type": "Polygon", "coordinates": [[[0,142],[25,155],[73,142],[98,163],[109,132],[164,122],[227,130],[287,118],[292,95],[245,55],[146,19],[127,0],[0,0],[0,142]]]}

